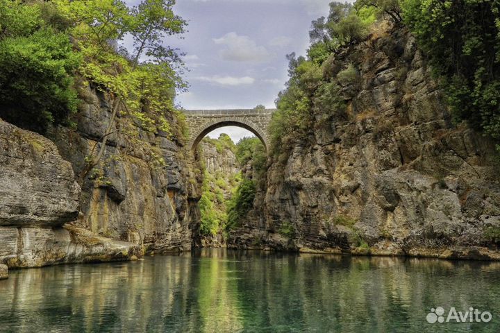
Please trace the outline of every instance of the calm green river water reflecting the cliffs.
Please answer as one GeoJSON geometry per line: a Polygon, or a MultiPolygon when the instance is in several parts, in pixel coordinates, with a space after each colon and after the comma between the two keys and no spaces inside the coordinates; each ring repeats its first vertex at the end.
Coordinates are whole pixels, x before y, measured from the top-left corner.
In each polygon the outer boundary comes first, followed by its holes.
{"type": "Polygon", "coordinates": [[[12,271],[1,332],[498,332],[500,263],[201,250],[12,271]],[[490,323],[428,324],[431,307],[490,323]]]}

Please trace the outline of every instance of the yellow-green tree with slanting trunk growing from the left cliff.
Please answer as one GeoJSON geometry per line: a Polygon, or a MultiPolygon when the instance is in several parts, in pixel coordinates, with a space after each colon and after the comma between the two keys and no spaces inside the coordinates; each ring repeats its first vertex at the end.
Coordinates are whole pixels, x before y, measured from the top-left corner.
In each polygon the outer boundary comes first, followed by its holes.
{"type": "Polygon", "coordinates": [[[174,95],[186,84],[176,50],[163,40],[183,33],[185,21],[174,15],[174,0],[142,0],[132,8],[120,0],[53,2],[73,22],[70,33],[85,60],[81,76],[114,97],[108,128],[86,159],[83,179],[99,164],[118,112],[143,130],[170,133],[167,117],[176,112],[174,95]],[[124,40],[133,48],[125,49],[124,40]]]}

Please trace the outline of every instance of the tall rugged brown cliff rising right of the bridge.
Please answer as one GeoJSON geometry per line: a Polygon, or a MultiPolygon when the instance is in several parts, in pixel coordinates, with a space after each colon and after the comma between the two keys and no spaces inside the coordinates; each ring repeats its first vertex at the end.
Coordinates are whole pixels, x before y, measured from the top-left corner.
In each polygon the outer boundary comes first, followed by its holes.
{"type": "Polygon", "coordinates": [[[500,259],[498,153],[453,126],[413,37],[379,32],[330,60],[328,76],[356,69],[340,82],[348,119],[318,112],[234,245],[500,259]]]}

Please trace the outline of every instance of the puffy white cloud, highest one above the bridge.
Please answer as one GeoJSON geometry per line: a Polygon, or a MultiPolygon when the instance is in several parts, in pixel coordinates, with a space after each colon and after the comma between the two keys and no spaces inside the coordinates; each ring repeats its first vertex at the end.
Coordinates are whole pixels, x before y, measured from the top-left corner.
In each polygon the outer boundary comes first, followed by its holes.
{"type": "Polygon", "coordinates": [[[220,55],[225,60],[265,62],[274,56],[264,46],[258,46],[250,37],[240,36],[235,32],[226,33],[220,38],[214,38],[213,41],[215,44],[226,46],[220,51],[220,55]]]}

